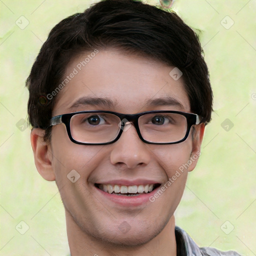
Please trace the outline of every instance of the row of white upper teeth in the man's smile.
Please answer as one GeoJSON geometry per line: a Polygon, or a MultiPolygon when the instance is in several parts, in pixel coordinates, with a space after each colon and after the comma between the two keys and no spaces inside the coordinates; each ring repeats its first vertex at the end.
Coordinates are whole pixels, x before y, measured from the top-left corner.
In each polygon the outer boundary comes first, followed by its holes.
{"type": "Polygon", "coordinates": [[[146,184],[146,185],[132,185],[132,186],[125,186],[125,185],[117,185],[117,184],[99,184],[99,189],[108,192],[108,193],[147,193],[153,190],[154,184],[146,184]]]}

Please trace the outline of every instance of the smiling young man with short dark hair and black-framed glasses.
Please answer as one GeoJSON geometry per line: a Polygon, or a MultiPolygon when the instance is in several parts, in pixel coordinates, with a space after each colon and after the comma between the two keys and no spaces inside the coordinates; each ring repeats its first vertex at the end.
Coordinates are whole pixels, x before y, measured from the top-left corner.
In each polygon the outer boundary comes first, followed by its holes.
{"type": "Polygon", "coordinates": [[[28,114],[72,256],[238,255],[199,248],[174,222],[212,110],[201,53],[175,13],[131,0],[50,31],[27,79],[28,114]]]}

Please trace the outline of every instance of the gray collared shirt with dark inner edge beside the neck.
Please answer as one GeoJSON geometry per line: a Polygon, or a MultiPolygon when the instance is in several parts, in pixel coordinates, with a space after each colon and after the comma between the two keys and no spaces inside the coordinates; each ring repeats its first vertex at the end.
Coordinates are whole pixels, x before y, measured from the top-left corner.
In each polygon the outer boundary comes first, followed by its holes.
{"type": "Polygon", "coordinates": [[[180,227],[175,227],[177,256],[241,256],[233,250],[220,251],[211,247],[198,247],[180,227]]]}

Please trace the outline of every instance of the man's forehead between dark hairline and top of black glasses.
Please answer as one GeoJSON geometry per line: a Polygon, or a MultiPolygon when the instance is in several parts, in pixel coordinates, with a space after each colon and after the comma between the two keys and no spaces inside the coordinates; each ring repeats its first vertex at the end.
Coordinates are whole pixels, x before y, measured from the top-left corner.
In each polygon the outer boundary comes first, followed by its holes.
{"type": "Polygon", "coordinates": [[[169,75],[173,66],[114,49],[92,52],[68,64],[53,115],[87,109],[190,111],[182,76],[174,80],[169,75]]]}

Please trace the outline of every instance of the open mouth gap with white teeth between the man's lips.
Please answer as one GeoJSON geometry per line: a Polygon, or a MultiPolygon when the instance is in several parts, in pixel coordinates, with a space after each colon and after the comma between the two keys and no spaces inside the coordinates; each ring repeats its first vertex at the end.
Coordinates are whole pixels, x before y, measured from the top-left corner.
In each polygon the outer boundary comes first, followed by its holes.
{"type": "Polygon", "coordinates": [[[139,185],[119,185],[119,184],[94,184],[98,189],[107,192],[109,194],[135,196],[140,194],[146,194],[159,187],[159,183],[154,184],[139,184],[139,185]]]}

